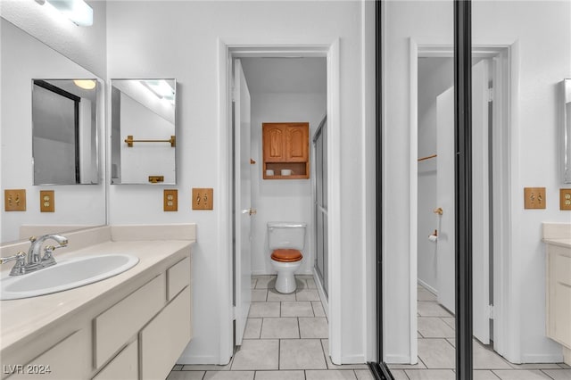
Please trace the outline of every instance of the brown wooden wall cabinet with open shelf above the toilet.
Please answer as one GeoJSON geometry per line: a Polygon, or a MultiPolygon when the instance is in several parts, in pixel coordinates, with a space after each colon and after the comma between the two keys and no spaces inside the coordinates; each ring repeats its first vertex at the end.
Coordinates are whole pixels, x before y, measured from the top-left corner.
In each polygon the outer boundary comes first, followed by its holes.
{"type": "Polygon", "coordinates": [[[310,178],[310,123],[263,123],[261,128],[263,178],[310,178]],[[282,169],[291,174],[282,175],[282,169]]]}

